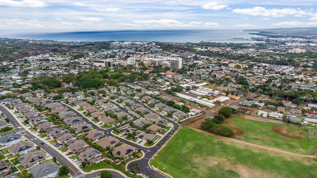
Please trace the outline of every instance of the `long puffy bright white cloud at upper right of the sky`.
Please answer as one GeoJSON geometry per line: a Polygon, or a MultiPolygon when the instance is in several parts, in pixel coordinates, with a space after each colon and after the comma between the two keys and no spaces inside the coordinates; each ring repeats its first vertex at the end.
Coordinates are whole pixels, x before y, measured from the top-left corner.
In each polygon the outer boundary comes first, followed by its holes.
{"type": "Polygon", "coordinates": [[[294,8],[283,8],[283,9],[266,9],[264,7],[253,7],[253,8],[245,8],[245,9],[233,9],[235,13],[245,14],[245,15],[252,15],[252,16],[265,16],[265,17],[284,17],[287,15],[294,15],[294,16],[303,16],[309,15],[310,13],[305,10],[299,10],[294,8]]]}

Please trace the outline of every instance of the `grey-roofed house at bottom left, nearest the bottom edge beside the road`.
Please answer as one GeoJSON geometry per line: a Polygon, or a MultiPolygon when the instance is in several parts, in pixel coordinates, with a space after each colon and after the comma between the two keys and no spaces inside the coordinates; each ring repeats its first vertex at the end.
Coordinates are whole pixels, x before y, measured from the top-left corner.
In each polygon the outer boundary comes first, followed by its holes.
{"type": "Polygon", "coordinates": [[[29,170],[33,178],[56,178],[58,176],[59,166],[50,161],[29,170]]]}

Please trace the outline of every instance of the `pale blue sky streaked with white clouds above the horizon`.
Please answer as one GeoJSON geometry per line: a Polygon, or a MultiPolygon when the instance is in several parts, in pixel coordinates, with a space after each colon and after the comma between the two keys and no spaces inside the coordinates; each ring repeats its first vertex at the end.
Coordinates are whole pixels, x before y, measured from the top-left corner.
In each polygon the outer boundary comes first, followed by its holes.
{"type": "Polygon", "coordinates": [[[316,0],[0,0],[0,34],[317,27],[316,0]]]}

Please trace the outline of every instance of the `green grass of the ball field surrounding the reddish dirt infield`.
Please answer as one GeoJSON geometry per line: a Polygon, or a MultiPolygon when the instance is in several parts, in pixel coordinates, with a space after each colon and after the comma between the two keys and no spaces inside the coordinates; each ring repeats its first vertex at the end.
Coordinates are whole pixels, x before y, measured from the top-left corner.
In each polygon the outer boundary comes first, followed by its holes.
{"type": "Polygon", "coordinates": [[[311,131],[309,133],[309,142],[307,141],[307,132],[303,129],[301,140],[286,138],[272,131],[272,126],[281,126],[286,128],[285,133],[299,135],[300,128],[298,127],[270,122],[263,123],[248,119],[228,119],[227,121],[244,132],[242,135],[234,136],[238,140],[306,155],[310,154],[317,146],[317,140],[311,138],[311,131]]]}

